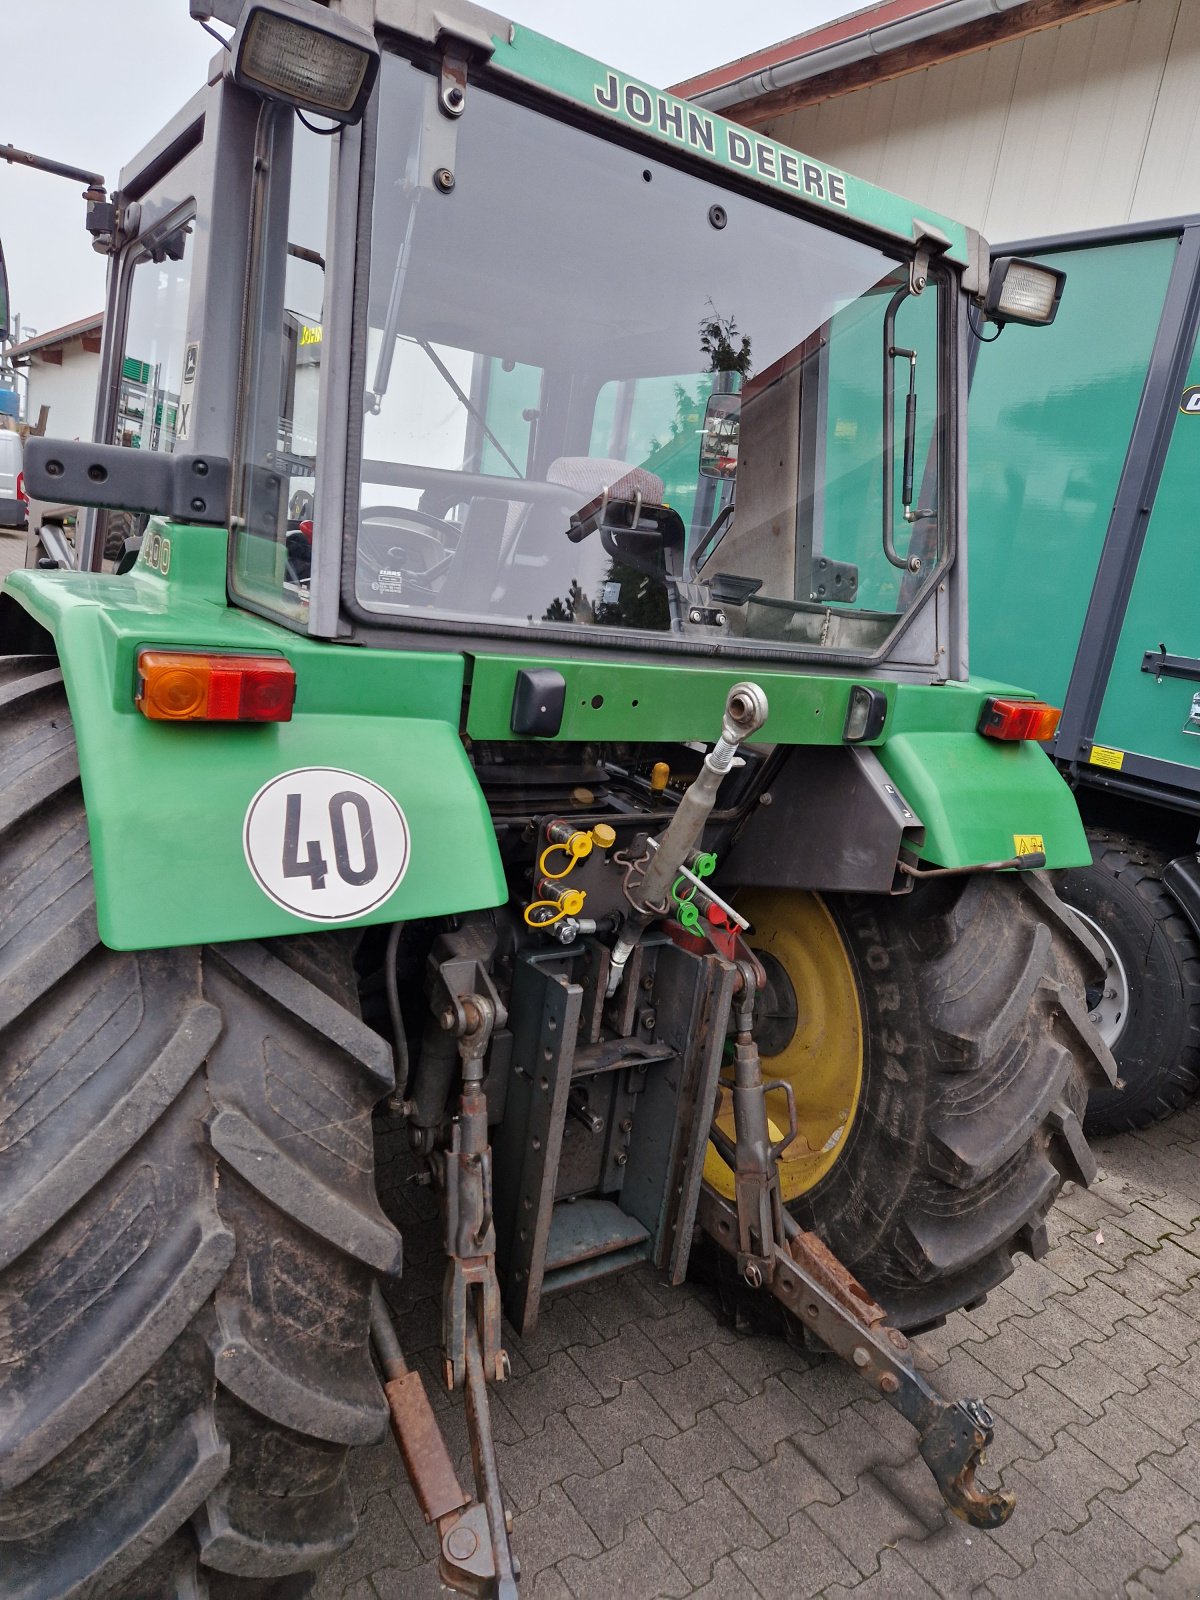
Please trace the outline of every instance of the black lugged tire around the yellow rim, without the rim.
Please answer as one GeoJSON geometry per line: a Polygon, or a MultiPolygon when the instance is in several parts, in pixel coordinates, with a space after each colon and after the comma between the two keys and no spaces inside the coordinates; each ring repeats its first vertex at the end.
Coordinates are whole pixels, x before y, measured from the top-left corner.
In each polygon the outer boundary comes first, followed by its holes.
{"type": "Polygon", "coordinates": [[[1114,1072],[1080,998],[1098,952],[1042,874],[829,906],[874,1018],[869,1080],[843,1155],[792,1210],[917,1330],[1045,1253],[1062,1182],[1094,1174],[1086,1083],[1114,1072]]]}

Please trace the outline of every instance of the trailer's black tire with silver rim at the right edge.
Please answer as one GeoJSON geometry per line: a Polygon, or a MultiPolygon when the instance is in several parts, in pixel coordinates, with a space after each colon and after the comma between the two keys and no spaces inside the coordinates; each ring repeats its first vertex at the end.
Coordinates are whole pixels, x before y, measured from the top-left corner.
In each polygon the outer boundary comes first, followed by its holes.
{"type": "Polygon", "coordinates": [[[1061,874],[1058,891],[1104,949],[1088,1003],[1118,1083],[1091,1093],[1083,1126],[1128,1133],[1170,1117],[1200,1085],[1200,944],[1163,888],[1166,854],[1123,834],[1088,838],[1093,866],[1061,874]]]}

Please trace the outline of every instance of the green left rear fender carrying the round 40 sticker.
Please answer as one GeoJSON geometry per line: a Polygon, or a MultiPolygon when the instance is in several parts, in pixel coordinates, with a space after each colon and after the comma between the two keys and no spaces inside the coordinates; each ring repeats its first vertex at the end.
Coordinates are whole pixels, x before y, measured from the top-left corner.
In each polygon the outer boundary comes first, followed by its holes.
{"type": "MultiPolygon", "coordinates": [[[[462,656],[330,646],[229,606],[221,530],[157,523],[144,554],[150,549],[160,552],[158,565],[141,560],[122,578],[21,571],[5,584],[53,635],[62,666],[107,946],[138,950],[312,933],[507,901],[496,834],[458,733],[462,656]],[[285,656],[296,669],[291,722],[147,720],[134,706],[142,645],[285,656]],[[384,790],[381,803],[392,816],[394,826],[376,827],[365,846],[354,832],[354,806],[342,808],[352,874],[365,875],[365,848],[376,854],[373,882],[352,898],[362,904],[387,890],[362,914],[344,914],[349,891],[338,878],[323,795],[317,806],[306,800],[293,866],[296,853],[301,864],[309,858],[315,835],[326,867],[323,888],[334,891],[330,899],[341,890],[341,914],[322,912],[315,877],[304,869],[283,878],[285,894],[294,891],[304,914],[277,902],[243,840],[264,786],[280,774],[325,768],[344,774],[342,789],[365,779],[384,790]]],[[[296,790],[306,782],[298,778],[296,790]]],[[[266,834],[274,853],[266,877],[275,880],[285,851],[282,818],[280,810],[274,834],[269,826],[266,834]]],[[[262,851],[262,837],[256,848],[262,851]]]]}

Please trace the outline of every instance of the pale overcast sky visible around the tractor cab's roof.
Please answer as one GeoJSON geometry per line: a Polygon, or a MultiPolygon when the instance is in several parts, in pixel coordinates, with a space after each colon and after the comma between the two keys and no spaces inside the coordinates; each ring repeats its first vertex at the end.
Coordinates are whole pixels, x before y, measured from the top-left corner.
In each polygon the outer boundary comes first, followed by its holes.
{"type": "MultiPolygon", "coordinates": [[[[216,51],[187,0],[0,0],[0,144],[104,173],[120,168],[203,83],[216,51]]],[[[512,0],[517,22],[670,85],[816,27],[862,0],[512,0]]],[[[493,8],[504,11],[502,0],[493,8]]],[[[13,310],[45,333],[98,312],[104,258],[80,190],[0,162],[0,238],[13,310]]]]}

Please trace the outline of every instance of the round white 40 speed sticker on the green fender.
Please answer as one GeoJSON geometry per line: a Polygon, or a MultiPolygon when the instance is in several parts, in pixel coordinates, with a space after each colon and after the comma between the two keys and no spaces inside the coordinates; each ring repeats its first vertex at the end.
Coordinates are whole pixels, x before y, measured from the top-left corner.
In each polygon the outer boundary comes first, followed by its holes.
{"type": "Polygon", "coordinates": [[[395,800],[358,773],[299,766],[246,806],[246,864],[277,906],[309,922],[347,922],[381,906],[408,869],[395,800]]]}

